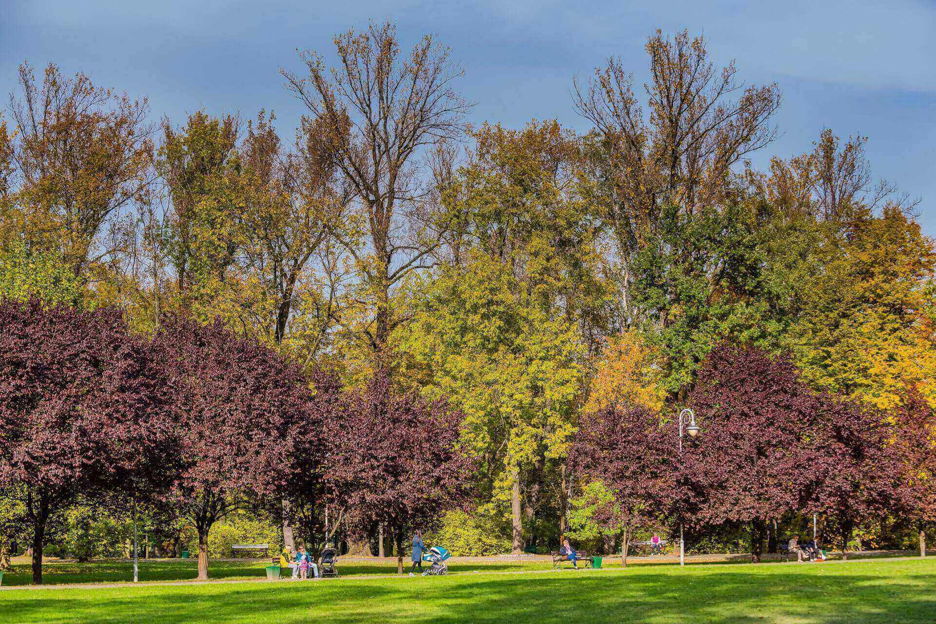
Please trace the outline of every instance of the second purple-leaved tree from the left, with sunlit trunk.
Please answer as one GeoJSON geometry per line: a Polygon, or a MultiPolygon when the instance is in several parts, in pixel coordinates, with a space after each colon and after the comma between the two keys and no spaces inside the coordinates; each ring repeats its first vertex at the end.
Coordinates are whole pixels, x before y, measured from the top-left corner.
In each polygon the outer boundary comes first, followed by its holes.
{"type": "Polygon", "coordinates": [[[219,324],[167,324],[154,344],[177,388],[179,470],[170,499],[195,525],[198,578],[206,579],[214,523],[285,483],[285,436],[311,392],[298,366],[219,324]]]}

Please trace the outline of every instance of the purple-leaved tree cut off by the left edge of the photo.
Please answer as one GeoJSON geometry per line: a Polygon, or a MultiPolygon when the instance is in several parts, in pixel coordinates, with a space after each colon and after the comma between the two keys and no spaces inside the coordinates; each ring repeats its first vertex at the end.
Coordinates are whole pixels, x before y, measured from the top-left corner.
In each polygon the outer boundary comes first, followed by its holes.
{"type": "Polygon", "coordinates": [[[38,585],[50,518],[78,493],[153,489],[172,388],[120,312],[6,301],[0,327],[0,487],[22,500],[38,585]]]}

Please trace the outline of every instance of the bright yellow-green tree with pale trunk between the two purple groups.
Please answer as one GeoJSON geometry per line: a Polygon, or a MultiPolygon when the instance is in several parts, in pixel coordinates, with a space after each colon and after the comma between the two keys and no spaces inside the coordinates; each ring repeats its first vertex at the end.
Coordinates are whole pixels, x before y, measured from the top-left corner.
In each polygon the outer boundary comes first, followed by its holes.
{"type": "MultiPolygon", "coordinates": [[[[481,256],[447,268],[413,306],[402,339],[429,396],[465,414],[462,442],[482,458],[483,481],[509,504],[523,547],[524,475],[564,457],[575,431],[583,349],[575,327],[532,304],[505,266],[481,256]]],[[[527,501],[531,509],[536,501],[527,501]]],[[[528,513],[527,516],[532,515],[528,513]]]]}

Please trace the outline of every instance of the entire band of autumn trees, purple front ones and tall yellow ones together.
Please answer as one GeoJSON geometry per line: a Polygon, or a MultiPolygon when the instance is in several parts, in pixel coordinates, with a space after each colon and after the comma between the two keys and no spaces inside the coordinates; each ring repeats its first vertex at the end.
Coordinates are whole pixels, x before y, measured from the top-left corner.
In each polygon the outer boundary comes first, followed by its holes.
{"type": "Polygon", "coordinates": [[[868,138],[824,127],[755,167],[780,88],[687,30],[651,33],[645,85],[613,56],[574,80],[583,132],[466,125],[436,36],[333,42],[333,69],[280,70],[293,136],[265,109],[154,123],[86,73],[20,67],[0,566],[25,523],[39,582],[78,492],[183,517],[201,578],[241,511],[286,544],[382,535],[398,556],[455,506],[491,544],[551,549],[592,495],[583,539],[625,558],[684,525],[750,530],[759,559],[812,514],[843,552],[925,543],[936,246],[868,138]]]}

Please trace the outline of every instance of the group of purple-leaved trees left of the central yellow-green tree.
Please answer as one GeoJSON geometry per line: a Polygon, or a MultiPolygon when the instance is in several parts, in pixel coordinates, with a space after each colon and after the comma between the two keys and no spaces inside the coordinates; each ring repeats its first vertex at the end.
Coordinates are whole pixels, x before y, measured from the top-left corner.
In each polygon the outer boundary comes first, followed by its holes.
{"type": "Polygon", "coordinates": [[[316,373],[310,389],[299,367],[217,325],[147,339],[119,312],[36,300],[0,303],[0,321],[0,496],[30,535],[34,583],[51,518],[79,498],[184,518],[207,578],[209,531],[239,508],[285,509],[316,552],[339,526],[382,523],[402,553],[404,531],[465,494],[457,415],[384,378],[345,393],[316,373]]]}

